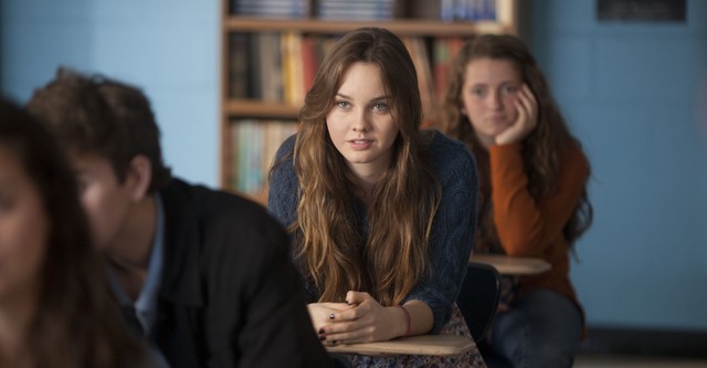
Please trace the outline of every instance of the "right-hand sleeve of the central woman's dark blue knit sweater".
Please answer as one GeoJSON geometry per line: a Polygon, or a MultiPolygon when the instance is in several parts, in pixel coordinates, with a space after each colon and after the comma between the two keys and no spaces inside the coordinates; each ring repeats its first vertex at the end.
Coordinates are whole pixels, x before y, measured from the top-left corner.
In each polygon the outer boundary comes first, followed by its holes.
{"type": "Polygon", "coordinates": [[[434,316],[436,334],[452,316],[476,231],[478,178],[466,146],[437,133],[431,147],[432,165],[442,185],[442,200],[432,223],[430,273],[407,299],[422,301],[434,316]]]}

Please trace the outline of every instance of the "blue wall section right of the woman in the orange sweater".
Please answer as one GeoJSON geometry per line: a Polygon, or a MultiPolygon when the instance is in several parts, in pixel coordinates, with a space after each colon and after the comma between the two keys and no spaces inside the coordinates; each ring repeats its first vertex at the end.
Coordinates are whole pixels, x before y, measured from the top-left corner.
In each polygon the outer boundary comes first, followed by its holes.
{"type": "Polygon", "coordinates": [[[679,24],[532,4],[530,43],[593,165],[595,221],[572,272],[589,322],[707,329],[707,2],[679,24]]]}

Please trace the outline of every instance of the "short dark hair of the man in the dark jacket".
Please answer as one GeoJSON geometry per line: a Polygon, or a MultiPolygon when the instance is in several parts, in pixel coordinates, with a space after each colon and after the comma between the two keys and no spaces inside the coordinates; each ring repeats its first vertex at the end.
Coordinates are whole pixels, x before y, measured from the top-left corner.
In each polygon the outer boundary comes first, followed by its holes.
{"type": "Polygon", "coordinates": [[[28,111],[51,126],[65,149],[107,159],[119,182],[130,160],[146,156],[152,167],[149,191],[165,188],[171,174],[162,161],[159,128],[150,103],[137,87],[60,67],[34,91],[28,111]]]}

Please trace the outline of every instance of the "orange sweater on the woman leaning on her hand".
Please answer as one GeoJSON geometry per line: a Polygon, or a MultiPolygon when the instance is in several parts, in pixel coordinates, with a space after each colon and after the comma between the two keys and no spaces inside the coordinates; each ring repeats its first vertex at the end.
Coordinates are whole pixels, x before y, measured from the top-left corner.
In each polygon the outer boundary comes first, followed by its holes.
{"type": "Polygon", "coordinates": [[[518,293],[531,287],[551,288],[569,297],[582,311],[569,280],[569,248],[562,228],[572,215],[587,183],[589,164],[574,146],[560,157],[563,162],[556,193],[536,201],[528,192],[521,145],[492,146],[489,168],[494,223],[507,255],[540,257],[552,265],[542,274],[521,277],[518,293]]]}

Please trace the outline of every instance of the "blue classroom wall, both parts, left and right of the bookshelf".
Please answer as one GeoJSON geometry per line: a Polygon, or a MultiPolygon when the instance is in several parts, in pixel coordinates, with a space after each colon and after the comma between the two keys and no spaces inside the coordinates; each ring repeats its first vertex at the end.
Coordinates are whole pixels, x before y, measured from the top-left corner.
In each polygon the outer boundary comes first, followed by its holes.
{"type": "MultiPolygon", "coordinates": [[[[1,3],[4,94],[27,101],[60,64],[138,84],[176,172],[217,185],[218,1],[1,3]]],[[[532,6],[531,46],[594,170],[572,271],[589,323],[707,330],[707,2],[679,25],[599,23],[589,0],[532,6]]]]}

